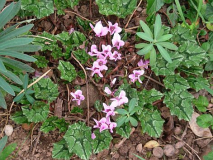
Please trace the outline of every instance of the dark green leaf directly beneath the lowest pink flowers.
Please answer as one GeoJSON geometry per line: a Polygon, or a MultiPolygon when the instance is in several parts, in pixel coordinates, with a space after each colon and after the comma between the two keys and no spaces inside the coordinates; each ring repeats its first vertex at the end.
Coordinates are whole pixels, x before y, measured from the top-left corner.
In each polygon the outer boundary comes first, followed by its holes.
{"type": "Polygon", "coordinates": [[[99,130],[94,131],[96,138],[92,141],[93,153],[99,153],[104,149],[108,149],[112,136],[108,130],[100,132],[99,130]]]}

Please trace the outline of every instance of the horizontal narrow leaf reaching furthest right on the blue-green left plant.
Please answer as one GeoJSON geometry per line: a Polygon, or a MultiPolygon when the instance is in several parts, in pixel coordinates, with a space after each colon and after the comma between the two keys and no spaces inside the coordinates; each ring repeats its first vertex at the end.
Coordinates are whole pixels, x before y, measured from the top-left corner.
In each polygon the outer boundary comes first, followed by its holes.
{"type": "Polygon", "coordinates": [[[11,47],[5,49],[6,51],[17,51],[17,52],[36,52],[41,49],[41,46],[38,45],[23,45],[23,46],[17,46],[17,47],[11,47]]]}

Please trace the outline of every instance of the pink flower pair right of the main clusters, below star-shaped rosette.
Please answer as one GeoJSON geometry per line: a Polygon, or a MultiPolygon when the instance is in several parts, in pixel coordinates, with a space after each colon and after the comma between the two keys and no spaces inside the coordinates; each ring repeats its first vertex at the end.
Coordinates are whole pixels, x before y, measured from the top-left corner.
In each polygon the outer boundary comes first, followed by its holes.
{"type": "Polygon", "coordinates": [[[133,70],[133,74],[129,75],[131,82],[134,83],[138,80],[139,83],[142,83],[140,76],[144,74],[144,68],[148,69],[148,64],[149,64],[149,60],[146,60],[143,62],[143,60],[141,59],[138,62],[138,67],[140,67],[140,70],[133,70]]]}

